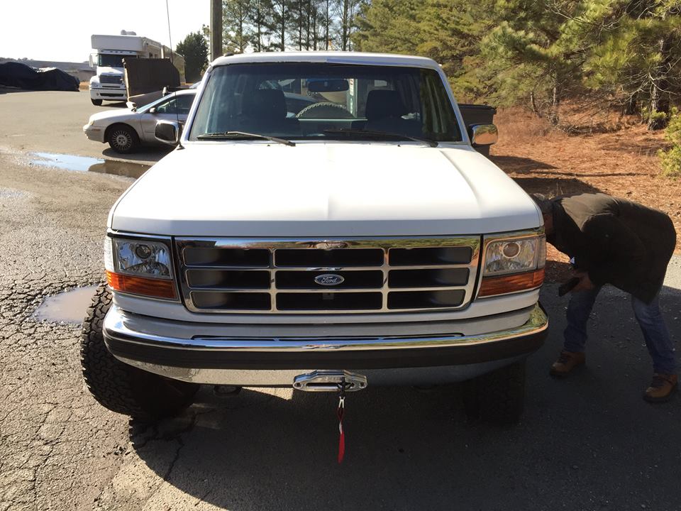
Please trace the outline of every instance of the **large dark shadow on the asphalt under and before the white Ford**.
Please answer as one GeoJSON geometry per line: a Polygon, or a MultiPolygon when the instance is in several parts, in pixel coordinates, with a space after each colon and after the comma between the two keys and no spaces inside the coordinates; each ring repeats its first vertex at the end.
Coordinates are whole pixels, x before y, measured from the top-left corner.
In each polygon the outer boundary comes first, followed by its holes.
{"type": "MultiPolygon", "coordinates": [[[[511,429],[467,422],[455,387],[370,387],[346,400],[339,466],[335,395],[204,389],[184,417],[133,428],[133,447],[175,488],[230,510],[670,509],[681,400],[641,399],[650,360],[629,297],[604,290],[587,366],[553,380],[567,304],[556,290],[543,289],[550,336],[528,359],[526,412],[511,429]]],[[[681,339],[681,292],[665,288],[663,308],[681,339]]]]}

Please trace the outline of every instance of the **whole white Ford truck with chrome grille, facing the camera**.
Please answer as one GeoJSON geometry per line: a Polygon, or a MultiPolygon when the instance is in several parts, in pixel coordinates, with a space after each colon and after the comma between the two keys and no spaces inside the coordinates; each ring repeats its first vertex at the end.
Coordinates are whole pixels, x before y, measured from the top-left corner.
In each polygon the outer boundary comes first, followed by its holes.
{"type": "Polygon", "coordinates": [[[262,53],[206,72],[179,146],[111,209],[84,322],[94,397],[144,420],[199,384],[344,392],[465,382],[513,422],[548,319],[530,197],[421,57],[262,53]]]}

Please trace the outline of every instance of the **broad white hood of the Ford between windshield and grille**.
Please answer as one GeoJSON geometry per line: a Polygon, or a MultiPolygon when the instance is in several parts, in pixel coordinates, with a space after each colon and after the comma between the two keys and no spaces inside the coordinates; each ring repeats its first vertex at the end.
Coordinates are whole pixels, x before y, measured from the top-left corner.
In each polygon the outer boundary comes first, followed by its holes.
{"type": "Polygon", "coordinates": [[[469,146],[189,143],[111,209],[169,236],[423,236],[540,226],[528,195],[469,146]]]}

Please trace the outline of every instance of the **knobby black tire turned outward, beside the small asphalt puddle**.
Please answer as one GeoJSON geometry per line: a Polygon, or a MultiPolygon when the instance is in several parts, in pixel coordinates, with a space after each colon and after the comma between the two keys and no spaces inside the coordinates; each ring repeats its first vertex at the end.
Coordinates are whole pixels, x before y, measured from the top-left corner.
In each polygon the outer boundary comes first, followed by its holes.
{"type": "Polygon", "coordinates": [[[83,378],[94,398],[112,412],[143,422],[172,417],[192,404],[199,385],[170,380],[118,361],[104,345],[104,316],[111,307],[111,292],[97,288],[83,321],[80,363],[83,378]]]}

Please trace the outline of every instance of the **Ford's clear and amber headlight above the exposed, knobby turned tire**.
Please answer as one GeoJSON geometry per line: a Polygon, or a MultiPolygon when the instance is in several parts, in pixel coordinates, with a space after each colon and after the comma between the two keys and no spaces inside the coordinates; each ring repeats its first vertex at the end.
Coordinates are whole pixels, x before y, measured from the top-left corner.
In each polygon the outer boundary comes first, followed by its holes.
{"type": "Polygon", "coordinates": [[[162,241],[106,238],[104,265],[116,291],[175,299],[170,246],[162,241]]]}

